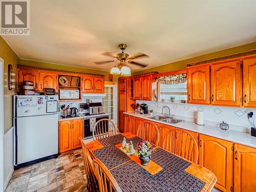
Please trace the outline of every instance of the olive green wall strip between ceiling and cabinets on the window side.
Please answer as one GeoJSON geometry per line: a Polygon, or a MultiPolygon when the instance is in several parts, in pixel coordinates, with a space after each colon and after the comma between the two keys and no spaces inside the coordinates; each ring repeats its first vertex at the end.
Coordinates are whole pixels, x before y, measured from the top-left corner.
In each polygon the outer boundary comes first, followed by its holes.
{"type": "Polygon", "coordinates": [[[246,45],[242,45],[242,46],[238,46],[238,47],[233,47],[233,48],[230,48],[230,49],[225,49],[225,50],[222,50],[222,51],[217,51],[217,52],[214,52],[214,53],[201,55],[201,56],[198,56],[198,57],[193,57],[193,58],[189,58],[189,59],[185,59],[185,60],[180,60],[180,61],[168,63],[168,64],[161,65],[161,66],[158,66],[158,67],[155,67],[155,68],[135,72],[132,75],[138,75],[138,74],[148,73],[148,72],[152,72],[152,71],[157,71],[159,73],[177,71],[177,70],[185,69],[187,63],[190,63],[190,62],[212,59],[212,58],[216,58],[216,57],[231,55],[231,54],[240,53],[240,52],[244,52],[244,51],[249,51],[249,50],[253,50],[253,49],[256,49],[256,42],[252,42],[251,44],[246,44],[246,45]]]}

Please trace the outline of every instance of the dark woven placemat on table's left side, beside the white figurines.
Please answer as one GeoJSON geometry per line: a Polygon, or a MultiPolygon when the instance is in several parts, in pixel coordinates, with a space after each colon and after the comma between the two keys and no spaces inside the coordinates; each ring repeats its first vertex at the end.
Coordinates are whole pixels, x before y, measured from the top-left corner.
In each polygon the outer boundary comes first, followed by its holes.
{"type": "Polygon", "coordinates": [[[100,148],[99,150],[93,151],[93,153],[108,169],[131,160],[116,146],[100,148]]]}

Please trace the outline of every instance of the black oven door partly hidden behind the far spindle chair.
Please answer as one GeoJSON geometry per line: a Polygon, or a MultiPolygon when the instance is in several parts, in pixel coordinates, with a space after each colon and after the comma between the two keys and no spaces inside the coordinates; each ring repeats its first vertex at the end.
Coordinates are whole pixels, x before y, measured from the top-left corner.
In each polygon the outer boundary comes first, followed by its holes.
{"type": "MultiPolygon", "coordinates": [[[[108,118],[109,118],[108,115],[96,117],[95,123],[98,122],[100,119],[108,119],[108,118]]],[[[93,130],[91,129],[90,119],[92,120],[92,118],[84,118],[84,120],[83,120],[83,138],[84,139],[88,139],[88,138],[93,137],[93,130]]],[[[103,123],[103,127],[101,127],[101,130],[100,130],[101,133],[102,133],[102,130],[103,130],[102,128],[104,128],[104,130],[105,130],[105,126],[106,126],[106,131],[109,131],[109,124],[104,124],[103,123]]]]}

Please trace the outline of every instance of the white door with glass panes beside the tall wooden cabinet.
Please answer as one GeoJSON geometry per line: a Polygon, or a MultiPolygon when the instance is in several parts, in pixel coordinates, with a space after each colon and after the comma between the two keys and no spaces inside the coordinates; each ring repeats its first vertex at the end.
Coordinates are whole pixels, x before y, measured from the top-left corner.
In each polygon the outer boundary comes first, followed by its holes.
{"type": "Polygon", "coordinates": [[[117,124],[117,86],[105,84],[106,96],[102,100],[103,112],[109,114],[109,119],[117,124]]]}

